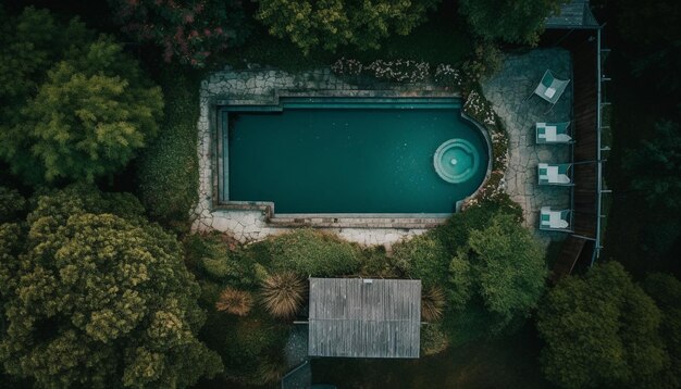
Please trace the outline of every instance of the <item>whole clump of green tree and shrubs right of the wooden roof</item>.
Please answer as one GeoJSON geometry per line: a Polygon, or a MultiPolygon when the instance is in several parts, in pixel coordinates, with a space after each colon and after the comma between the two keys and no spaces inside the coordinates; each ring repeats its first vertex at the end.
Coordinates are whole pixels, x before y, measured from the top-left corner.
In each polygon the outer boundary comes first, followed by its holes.
{"type": "Polygon", "coordinates": [[[422,306],[444,311],[442,330],[453,344],[511,332],[536,308],[548,275],[542,244],[519,222],[516,206],[483,201],[395,244],[383,263],[422,280],[422,306]]]}

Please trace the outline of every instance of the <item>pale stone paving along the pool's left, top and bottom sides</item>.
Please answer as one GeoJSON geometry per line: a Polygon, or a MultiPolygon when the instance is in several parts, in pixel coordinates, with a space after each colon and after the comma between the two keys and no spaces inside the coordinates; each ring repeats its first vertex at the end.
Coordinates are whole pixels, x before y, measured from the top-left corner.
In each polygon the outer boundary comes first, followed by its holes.
{"type": "MultiPolygon", "coordinates": [[[[392,96],[417,97],[451,96],[451,91],[432,84],[389,84],[372,78],[355,78],[348,84],[336,77],[331,70],[314,70],[289,74],[270,68],[251,68],[213,73],[201,84],[200,114],[198,121],[199,154],[199,202],[194,212],[193,229],[196,231],[218,230],[232,235],[240,242],[262,240],[270,235],[292,229],[290,226],[267,222],[264,211],[260,210],[221,210],[214,206],[214,177],[212,162],[211,104],[272,104],[280,95],[321,93],[329,96],[392,96]]],[[[362,219],[346,218],[339,226],[348,224],[355,227],[323,228],[360,244],[373,246],[392,243],[405,237],[423,234],[432,225],[431,221],[414,224],[414,228],[377,228],[362,219]]],[[[389,226],[389,223],[386,224],[389,226]]]]}

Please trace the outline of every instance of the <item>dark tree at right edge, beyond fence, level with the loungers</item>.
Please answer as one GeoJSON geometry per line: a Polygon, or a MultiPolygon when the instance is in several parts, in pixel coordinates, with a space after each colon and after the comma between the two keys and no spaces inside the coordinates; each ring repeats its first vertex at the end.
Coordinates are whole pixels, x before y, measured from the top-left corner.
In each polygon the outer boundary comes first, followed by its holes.
{"type": "Polygon", "coordinates": [[[655,134],[641,147],[628,150],[623,167],[630,173],[631,187],[645,193],[648,201],[669,210],[681,210],[681,128],[679,123],[659,121],[655,134]]]}

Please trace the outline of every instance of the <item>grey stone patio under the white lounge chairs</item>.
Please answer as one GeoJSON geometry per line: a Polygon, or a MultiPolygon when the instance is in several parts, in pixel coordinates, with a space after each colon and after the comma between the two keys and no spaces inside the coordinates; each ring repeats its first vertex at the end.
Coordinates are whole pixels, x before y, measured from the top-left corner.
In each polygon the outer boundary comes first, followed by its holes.
{"type": "Polygon", "coordinates": [[[546,112],[550,104],[538,96],[528,100],[547,68],[557,77],[572,78],[570,52],[564,49],[545,49],[507,55],[502,70],[485,80],[482,88],[508,131],[506,192],[522,206],[528,227],[536,230],[543,238],[561,238],[565,234],[538,230],[538,213],[544,205],[569,209],[570,188],[538,186],[536,165],[540,162],[570,162],[571,147],[536,145],[534,125],[536,122],[570,121],[572,85],[568,85],[550,112],[546,112]]]}

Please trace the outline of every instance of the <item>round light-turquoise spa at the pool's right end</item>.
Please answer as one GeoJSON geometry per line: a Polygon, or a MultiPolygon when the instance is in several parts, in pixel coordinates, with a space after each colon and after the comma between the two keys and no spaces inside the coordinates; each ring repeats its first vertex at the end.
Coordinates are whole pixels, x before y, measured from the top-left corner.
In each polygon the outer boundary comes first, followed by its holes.
{"type": "Polygon", "coordinates": [[[449,139],[439,145],[433,155],[435,172],[451,184],[469,180],[478,172],[479,164],[478,150],[466,139],[449,139]]]}

